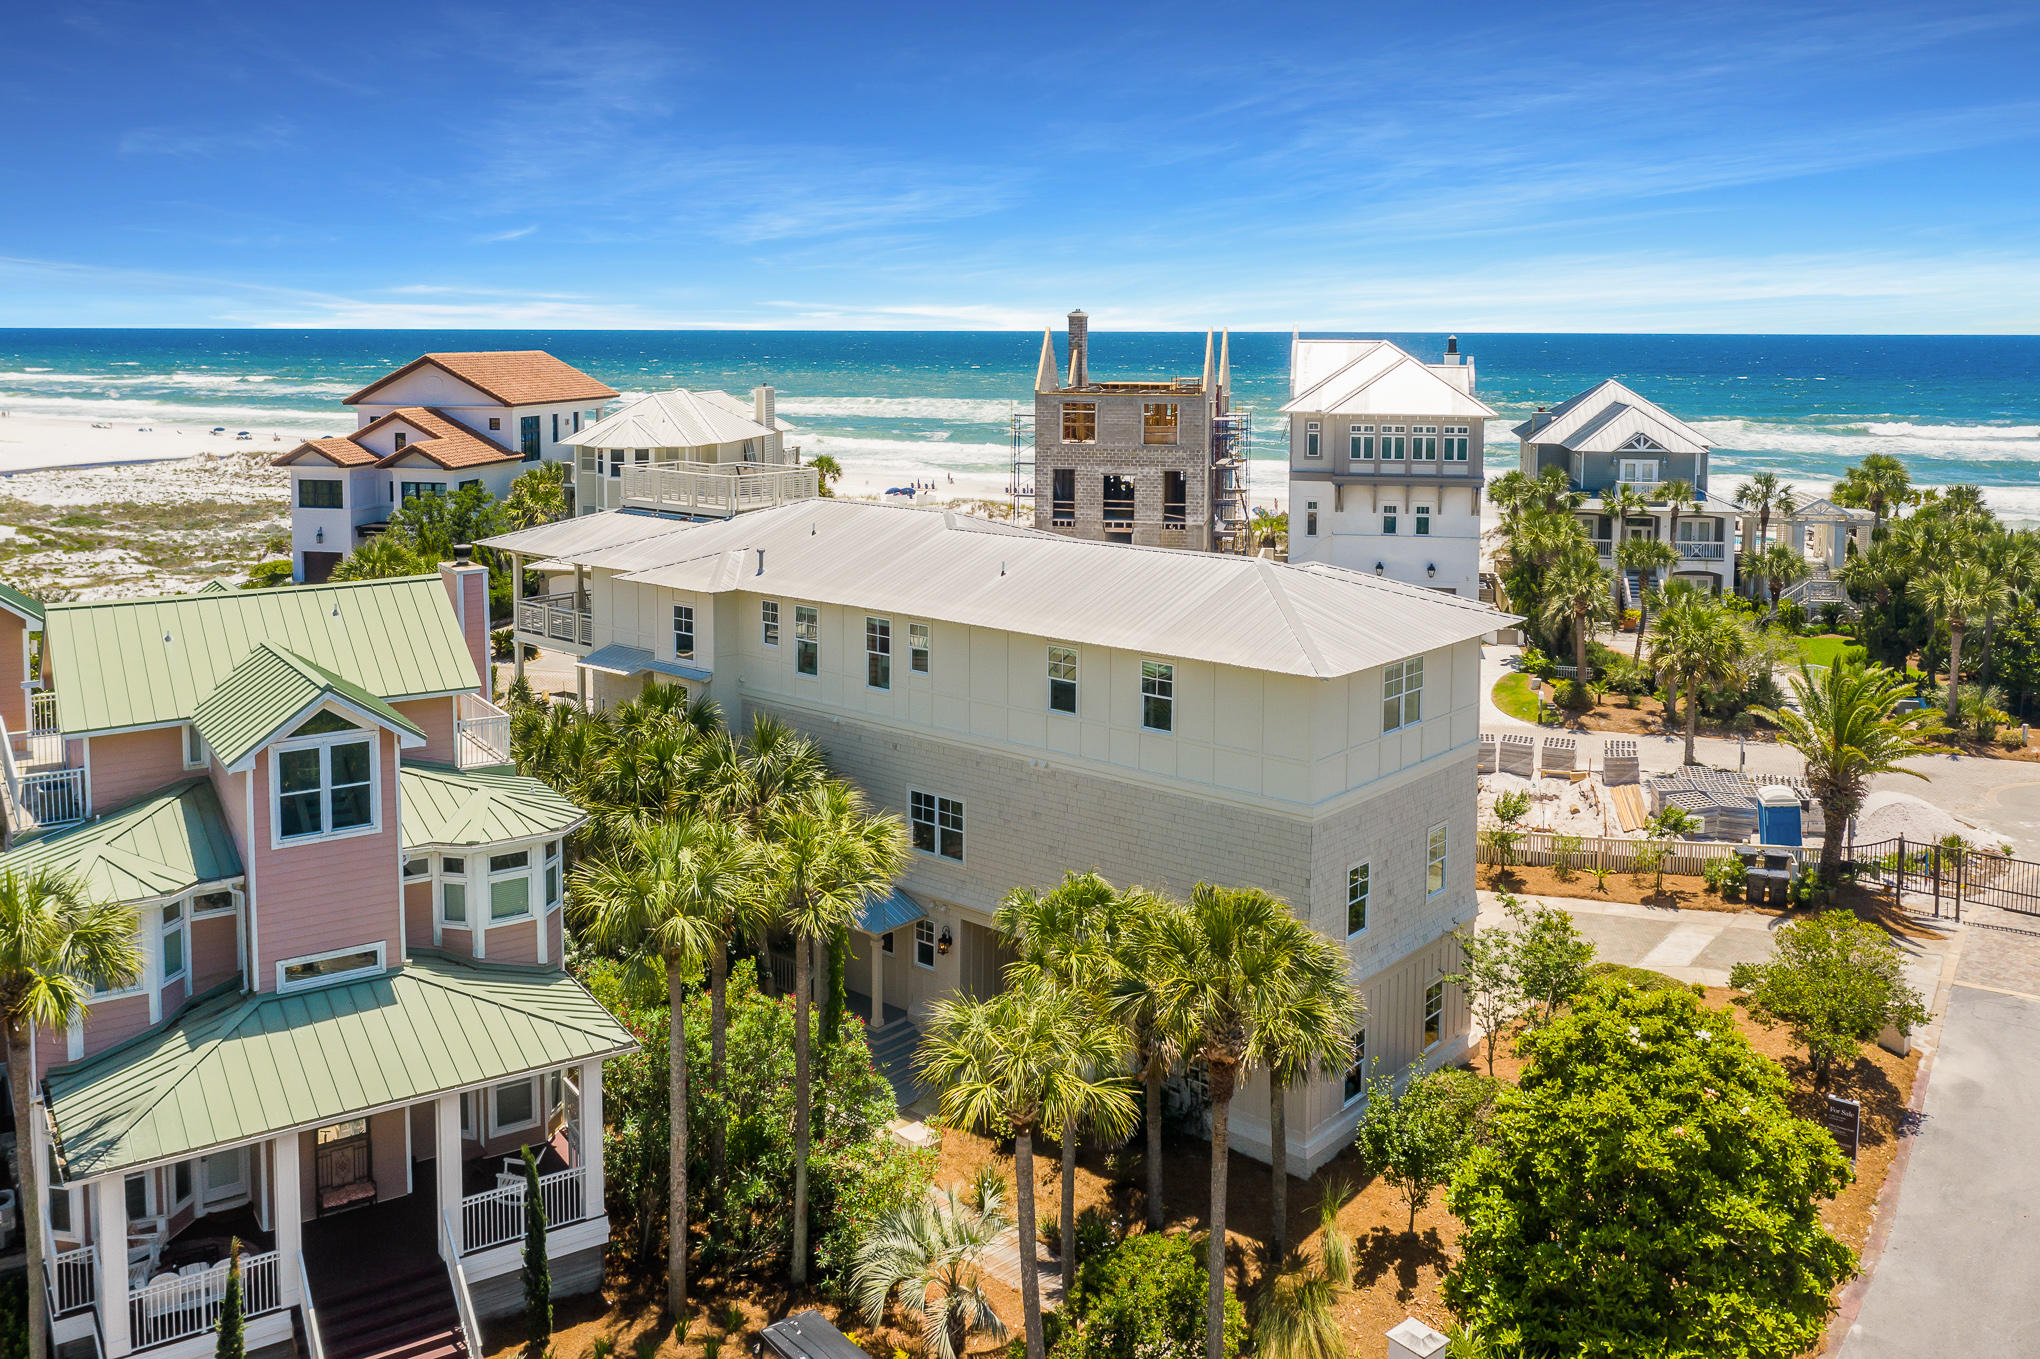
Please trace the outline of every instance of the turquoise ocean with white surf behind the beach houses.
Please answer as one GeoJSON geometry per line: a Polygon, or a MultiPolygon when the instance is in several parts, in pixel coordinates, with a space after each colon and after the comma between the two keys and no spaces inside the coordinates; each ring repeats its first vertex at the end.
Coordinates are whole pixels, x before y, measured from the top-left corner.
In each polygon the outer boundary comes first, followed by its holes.
{"type": "MultiPolygon", "coordinates": [[[[1387,335],[1436,357],[1444,335],[1387,335]]],[[[1714,445],[1716,486],[1771,469],[1826,488],[1865,453],[1916,484],[1973,482],[2040,518],[2040,337],[1461,335],[1489,426],[1489,475],[1516,459],[1508,426],[1620,377],[1714,445]]],[[[1255,412],[1255,492],[1281,496],[1289,337],[1232,337],[1234,404],[1255,412]]],[[[1057,331],[1061,353],[1061,331],[1057,331]]],[[[634,396],[657,388],[779,390],[808,455],[881,480],[996,475],[1012,410],[1032,408],[1040,333],[959,331],[4,331],[0,408],[112,422],[351,429],[343,396],[441,349],[547,349],[634,396]]],[[[1195,375],[1204,335],[1091,335],[1102,380],[1195,375]]]]}

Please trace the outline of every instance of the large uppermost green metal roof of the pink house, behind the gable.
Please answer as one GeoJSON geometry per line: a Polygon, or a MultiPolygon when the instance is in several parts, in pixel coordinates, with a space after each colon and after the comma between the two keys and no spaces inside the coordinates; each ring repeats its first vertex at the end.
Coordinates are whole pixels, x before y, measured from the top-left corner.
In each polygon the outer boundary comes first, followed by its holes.
{"type": "Polygon", "coordinates": [[[437,575],[51,604],[45,631],[73,737],[188,722],[261,643],[386,700],[481,688],[437,575]]]}

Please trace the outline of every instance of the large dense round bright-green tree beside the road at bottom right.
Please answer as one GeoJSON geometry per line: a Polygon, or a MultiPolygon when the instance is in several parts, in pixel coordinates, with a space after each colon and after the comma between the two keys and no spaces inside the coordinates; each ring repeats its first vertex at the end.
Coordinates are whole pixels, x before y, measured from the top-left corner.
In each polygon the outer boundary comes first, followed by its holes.
{"type": "Polygon", "coordinates": [[[1734,1016],[1603,984],[1522,1049],[1446,1196],[1446,1304],[1512,1355],[1812,1349],[1856,1267],[1820,1222],[1850,1169],[1734,1016]]]}

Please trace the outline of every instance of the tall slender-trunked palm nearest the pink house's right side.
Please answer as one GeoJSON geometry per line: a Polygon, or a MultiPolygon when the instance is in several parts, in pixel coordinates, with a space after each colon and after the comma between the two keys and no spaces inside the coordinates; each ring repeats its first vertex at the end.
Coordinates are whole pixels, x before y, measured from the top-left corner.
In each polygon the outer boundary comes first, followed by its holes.
{"type": "Polygon", "coordinates": [[[618,847],[575,869],[575,908],[588,937],[665,965],[671,1006],[667,1035],[667,1173],[665,1306],[687,1306],[687,1006],[681,988],[716,945],[716,922],[743,910],[757,890],[759,853],[738,830],[716,820],[647,822],[618,847]]]}

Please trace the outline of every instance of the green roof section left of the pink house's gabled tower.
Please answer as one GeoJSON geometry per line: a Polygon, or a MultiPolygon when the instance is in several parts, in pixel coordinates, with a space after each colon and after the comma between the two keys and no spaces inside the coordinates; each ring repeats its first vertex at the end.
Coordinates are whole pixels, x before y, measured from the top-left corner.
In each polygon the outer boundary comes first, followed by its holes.
{"type": "Polygon", "coordinates": [[[192,779],[20,843],[0,873],[53,867],[96,900],[145,902],[241,875],[235,837],[208,779],[192,779]]]}

